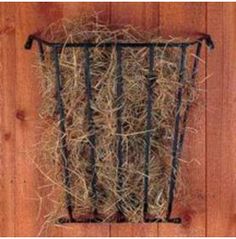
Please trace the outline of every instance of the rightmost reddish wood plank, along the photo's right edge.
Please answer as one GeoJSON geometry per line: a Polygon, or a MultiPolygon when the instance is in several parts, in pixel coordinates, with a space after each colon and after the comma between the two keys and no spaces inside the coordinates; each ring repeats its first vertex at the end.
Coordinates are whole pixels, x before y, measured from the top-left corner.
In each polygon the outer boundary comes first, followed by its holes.
{"type": "Polygon", "coordinates": [[[208,3],[207,235],[236,236],[236,5],[208,3]]]}

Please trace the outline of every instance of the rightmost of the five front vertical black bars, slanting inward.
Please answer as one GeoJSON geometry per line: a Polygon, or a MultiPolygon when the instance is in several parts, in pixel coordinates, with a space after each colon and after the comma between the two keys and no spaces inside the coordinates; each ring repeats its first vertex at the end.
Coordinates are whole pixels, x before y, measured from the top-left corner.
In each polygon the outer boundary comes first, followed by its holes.
{"type": "Polygon", "coordinates": [[[186,46],[181,46],[181,59],[180,59],[180,70],[179,70],[179,89],[177,93],[176,102],[176,116],[175,116],[175,128],[174,128],[174,139],[172,145],[172,169],[169,179],[169,192],[168,192],[168,205],[166,219],[169,220],[171,216],[173,200],[174,200],[174,190],[176,184],[177,170],[178,170],[178,138],[179,138],[179,124],[180,124],[180,108],[182,104],[182,94],[183,94],[183,83],[185,76],[185,64],[186,64],[186,46]]]}

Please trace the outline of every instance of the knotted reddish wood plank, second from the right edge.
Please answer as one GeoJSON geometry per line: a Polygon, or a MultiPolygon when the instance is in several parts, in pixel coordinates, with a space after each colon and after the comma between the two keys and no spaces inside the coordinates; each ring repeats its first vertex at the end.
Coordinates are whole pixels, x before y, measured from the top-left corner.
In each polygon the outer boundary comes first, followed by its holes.
{"type": "MultiPolygon", "coordinates": [[[[160,31],[162,36],[192,36],[205,32],[206,8],[204,3],[161,3],[160,31]]],[[[204,51],[202,52],[204,59],[204,51]]],[[[205,77],[205,67],[200,65],[199,81],[205,77]]],[[[200,85],[199,85],[200,86],[200,85]]],[[[205,85],[201,84],[204,90],[205,85]]],[[[205,235],[205,113],[204,92],[198,105],[191,110],[190,127],[197,134],[187,134],[181,163],[183,182],[187,193],[180,192],[179,201],[175,201],[173,217],[180,216],[182,224],[160,224],[160,236],[204,236],[205,235]],[[190,163],[190,161],[192,163],[190,163]],[[198,163],[196,163],[198,162],[198,163]],[[185,175],[185,176],[184,176],[185,175]],[[182,200],[181,200],[182,199],[182,200]]]]}

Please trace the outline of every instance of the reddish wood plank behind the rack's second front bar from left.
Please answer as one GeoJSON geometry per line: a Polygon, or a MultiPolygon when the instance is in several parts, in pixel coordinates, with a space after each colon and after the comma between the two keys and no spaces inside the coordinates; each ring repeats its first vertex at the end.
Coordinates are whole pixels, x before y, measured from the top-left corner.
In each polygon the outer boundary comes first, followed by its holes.
{"type": "MultiPolygon", "coordinates": [[[[81,13],[94,14],[98,13],[99,18],[105,22],[110,19],[109,3],[64,3],[63,17],[78,17],[81,13]]],[[[109,224],[66,224],[62,227],[63,236],[73,237],[107,237],[110,235],[109,224]]]]}

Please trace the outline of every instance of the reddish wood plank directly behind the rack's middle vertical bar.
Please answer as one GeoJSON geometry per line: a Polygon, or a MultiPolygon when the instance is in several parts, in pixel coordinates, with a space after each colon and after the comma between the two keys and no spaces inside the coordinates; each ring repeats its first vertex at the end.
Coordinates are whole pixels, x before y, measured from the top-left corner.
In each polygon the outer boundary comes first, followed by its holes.
{"type": "MultiPolygon", "coordinates": [[[[111,24],[132,24],[139,29],[154,29],[159,27],[158,3],[111,3],[111,24]]],[[[157,236],[157,224],[112,224],[111,236],[157,236]]]]}

